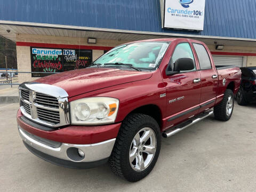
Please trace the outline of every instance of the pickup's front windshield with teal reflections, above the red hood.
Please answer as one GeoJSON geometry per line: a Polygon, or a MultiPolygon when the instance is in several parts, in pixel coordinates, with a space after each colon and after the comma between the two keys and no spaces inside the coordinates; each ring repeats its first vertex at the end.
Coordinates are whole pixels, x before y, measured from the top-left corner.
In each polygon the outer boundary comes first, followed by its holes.
{"type": "Polygon", "coordinates": [[[140,42],[117,46],[94,61],[92,66],[154,70],[162,60],[168,45],[167,42],[140,42]]]}

